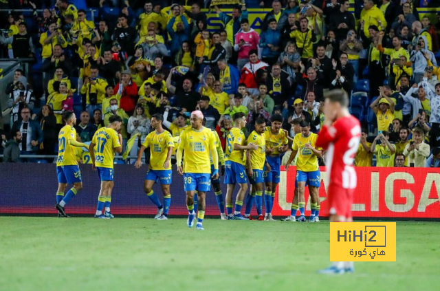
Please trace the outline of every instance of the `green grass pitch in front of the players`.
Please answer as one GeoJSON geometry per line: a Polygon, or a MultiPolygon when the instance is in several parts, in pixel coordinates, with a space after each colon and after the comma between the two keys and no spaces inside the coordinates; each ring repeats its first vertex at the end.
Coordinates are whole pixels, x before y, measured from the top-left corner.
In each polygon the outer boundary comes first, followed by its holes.
{"type": "Polygon", "coordinates": [[[0,217],[0,290],[436,290],[440,224],[397,222],[397,261],[329,266],[329,223],[0,217]]]}

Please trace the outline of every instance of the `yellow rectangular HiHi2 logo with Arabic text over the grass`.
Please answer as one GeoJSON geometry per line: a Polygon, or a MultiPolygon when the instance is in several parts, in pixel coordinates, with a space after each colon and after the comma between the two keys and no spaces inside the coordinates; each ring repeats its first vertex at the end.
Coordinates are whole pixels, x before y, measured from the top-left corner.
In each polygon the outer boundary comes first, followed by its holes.
{"type": "Polygon", "coordinates": [[[331,222],[330,261],[396,261],[396,223],[331,222]]]}

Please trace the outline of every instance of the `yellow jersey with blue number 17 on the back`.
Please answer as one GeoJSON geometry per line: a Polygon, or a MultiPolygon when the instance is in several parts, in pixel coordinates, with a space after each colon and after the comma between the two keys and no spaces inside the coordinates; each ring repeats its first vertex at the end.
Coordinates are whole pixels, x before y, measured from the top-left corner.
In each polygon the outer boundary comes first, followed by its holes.
{"type": "Polygon", "coordinates": [[[121,146],[118,133],[109,127],[102,127],[96,131],[91,142],[96,144],[94,148],[95,166],[113,169],[114,149],[121,146]]]}

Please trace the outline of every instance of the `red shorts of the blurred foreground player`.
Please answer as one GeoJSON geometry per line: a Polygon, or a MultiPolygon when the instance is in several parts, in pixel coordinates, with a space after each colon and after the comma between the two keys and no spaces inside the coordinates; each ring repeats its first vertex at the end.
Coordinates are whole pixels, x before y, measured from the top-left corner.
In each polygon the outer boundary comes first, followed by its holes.
{"type": "Polygon", "coordinates": [[[351,218],[351,204],[355,189],[345,189],[342,186],[329,184],[327,188],[327,207],[325,215],[338,215],[346,219],[351,218]]]}

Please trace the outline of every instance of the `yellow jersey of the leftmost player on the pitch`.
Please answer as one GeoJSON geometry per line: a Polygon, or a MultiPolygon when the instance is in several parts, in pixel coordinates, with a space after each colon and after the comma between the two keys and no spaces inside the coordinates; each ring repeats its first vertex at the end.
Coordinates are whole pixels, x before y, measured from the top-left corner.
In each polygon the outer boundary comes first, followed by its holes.
{"type": "Polygon", "coordinates": [[[76,162],[76,149],[69,144],[69,140],[76,140],[76,130],[70,125],[65,125],[58,133],[58,159],[56,166],[74,166],[76,162]]]}

